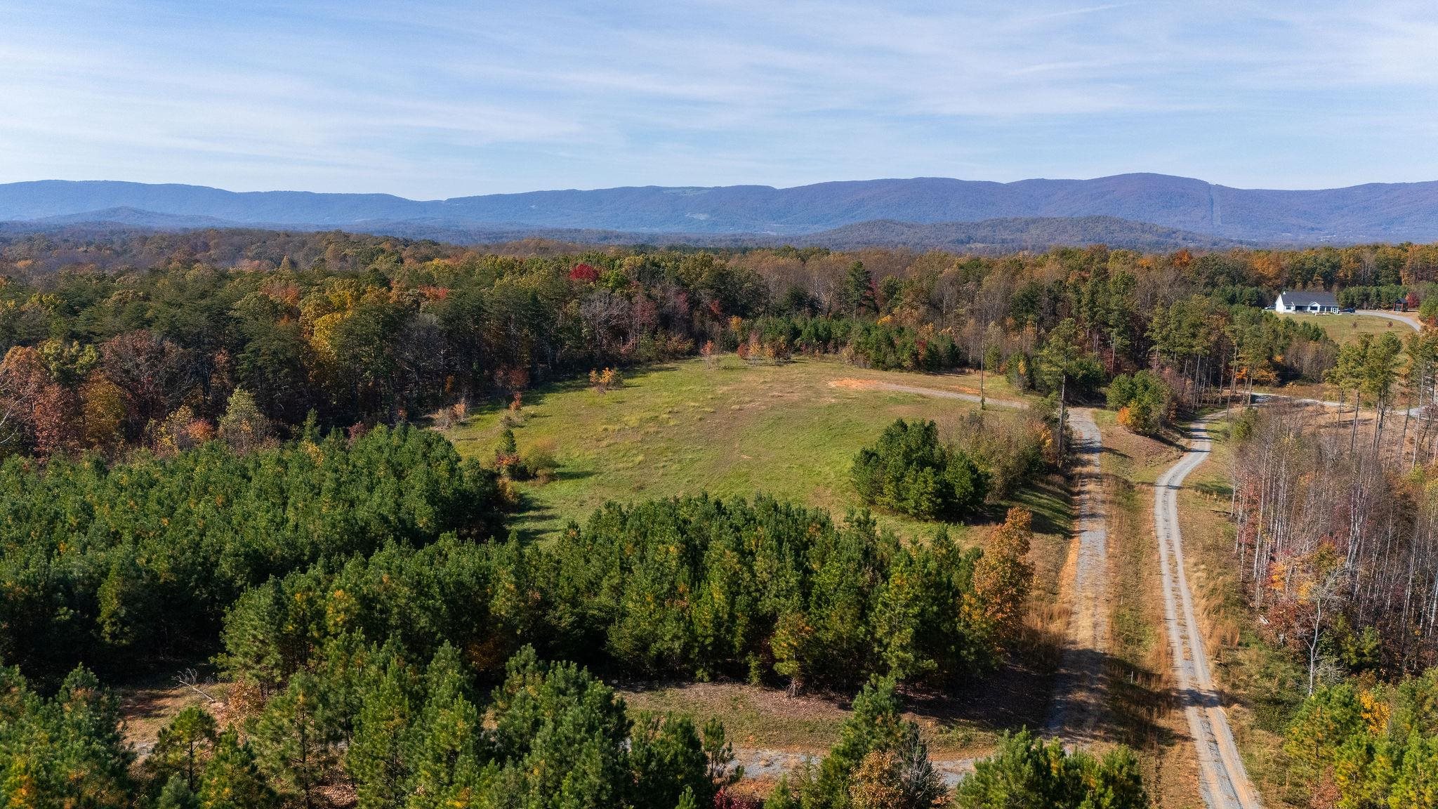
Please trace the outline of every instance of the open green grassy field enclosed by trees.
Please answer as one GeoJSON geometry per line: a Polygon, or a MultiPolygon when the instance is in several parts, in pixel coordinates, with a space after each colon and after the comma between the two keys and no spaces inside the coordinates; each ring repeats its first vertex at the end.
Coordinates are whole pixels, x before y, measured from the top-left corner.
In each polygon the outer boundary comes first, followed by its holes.
{"type": "MultiPolygon", "coordinates": [[[[841,518],[861,504],[848,481],[854,455],[896,417],[933,419],[952,435],[975,403],[861,387],[866,381],[978,392],[976,374],[910,374],[802,358],[782,366],[748,366],[736,357],[715,364],[686,360],[631,371],[607,393],[584,381],[558,383],[525,394],[513,428],[521,455],[549,446],[557,479],[522,485],[526,498],[516,525],[531,535],[584,521],[605,501],[628,502],[699,494],[772,494],[841,518]]],[[[1014,397],[1002,379],[989,377],[991,397],[1014,397]]],[[[487,459],[503,430],[506,410],[489,404],[446,435],[463,455],[487,459]]],[[[1014,410],[989,407],[988,419],[1014,410]]],[[[1067,530],[1063,492],[1025,495],[1040,528],[1067,530]]],[[[879,515],[907,535],[932,524],[879,515]]]]}

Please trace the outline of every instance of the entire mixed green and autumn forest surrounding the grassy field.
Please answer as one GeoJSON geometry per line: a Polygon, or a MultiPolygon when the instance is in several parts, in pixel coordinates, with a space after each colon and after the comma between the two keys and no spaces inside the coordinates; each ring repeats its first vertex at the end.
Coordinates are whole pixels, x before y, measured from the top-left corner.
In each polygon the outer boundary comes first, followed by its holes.
{"type": "MultiPolygon", "coordinates": [[[[508,530],[513,471],[414,426],[720,351],[975,369],[1060,420],[1107,396],[1150,433],[1255,386],[1333,384],[1376,416],[1362,446],[1356,425],[1337,440],[1286,410],[1240,419],[1235,564],[1314,698],[1366,674],[1363,694],[1406,704],[1412,687],[1380,684],[1435,662],[1438,435],[1383,415],[1432,404],[1431,340],[1340,350],[1260,307],[1327,286],[1428,311],[1435,282],[1438,249],[1416,245],[521,256],[344,233],[0,239],[0,802],[736,805],[723,728],[628,711],[603,681],[621,672],[858,690],[840,744],[771,803],[932,805],[946,790],[902,695],[1012,654],[1028,512],[979,551],[861,512],[696,495],[529,543],[508,530]],[[1395,429],[1414,443],[1392,449],[1395,429]],[[196,656],[233,682],[226,715],[181,714],[137,763],[102,682],[196,656]]],[[[1061,459],[1063,429],[1045,435],[1055,446],[949,448],[899,422],[847,472],[879,508],[963,518],[1061,459]]],[[[988,805],[1022,773],[1045,805],[1146,805],[1126,754],[1024,734],[955,800],[988,805]]]]}

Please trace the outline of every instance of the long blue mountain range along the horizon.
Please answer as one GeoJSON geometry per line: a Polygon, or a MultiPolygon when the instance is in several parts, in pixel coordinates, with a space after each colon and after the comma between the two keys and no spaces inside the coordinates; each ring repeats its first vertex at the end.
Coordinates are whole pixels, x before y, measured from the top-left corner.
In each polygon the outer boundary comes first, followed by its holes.
{"type": "MultiPolygon", "coordinates": [[[[0,184],[0,222],[56,227],[344,229],[443,240],[962,246],[1106,242],[1227,246],[1438,240],[1438,181],[1251,190],[1166,174],[985,183],[920,177],[623,187],[417,202],[390,194],[234,193],[116,181],[0,184]]],[[[27,227],[27,229],[29,229],[27,227]]]]}

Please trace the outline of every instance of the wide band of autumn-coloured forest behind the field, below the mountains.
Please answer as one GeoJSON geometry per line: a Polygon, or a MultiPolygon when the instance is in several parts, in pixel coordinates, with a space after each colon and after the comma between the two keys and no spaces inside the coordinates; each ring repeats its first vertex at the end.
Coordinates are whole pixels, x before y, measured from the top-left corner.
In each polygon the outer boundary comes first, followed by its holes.
{"type": "Polygon", "coordinates": [[[201,442],[236,392],[288,436],[312,410],[325,429],[393,425],[723,350],[982,369],[1047,393],[1055,330],[1097,369],[1071,397],[1149,369],[1196,402],[1327,370],[1330,343],[1255,309],[1278,289],[1438,307],[1438,248],[1421,245],[519,256],[345,233],[59,233],[0,242],[0,446],[39,455],[201,442]]]}

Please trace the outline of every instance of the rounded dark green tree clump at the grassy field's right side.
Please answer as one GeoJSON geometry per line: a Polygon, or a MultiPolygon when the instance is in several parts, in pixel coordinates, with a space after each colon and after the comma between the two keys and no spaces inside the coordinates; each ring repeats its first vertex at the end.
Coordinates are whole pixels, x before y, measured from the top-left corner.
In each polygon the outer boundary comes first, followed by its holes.
{"type": "Polygon", "coordinates": [[[897,419],[858,452],[851,474],[864,502],[923,520],[962,520],[988,495],[988,472],[939,443],[933,422],[897,419]]]}

